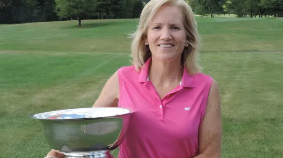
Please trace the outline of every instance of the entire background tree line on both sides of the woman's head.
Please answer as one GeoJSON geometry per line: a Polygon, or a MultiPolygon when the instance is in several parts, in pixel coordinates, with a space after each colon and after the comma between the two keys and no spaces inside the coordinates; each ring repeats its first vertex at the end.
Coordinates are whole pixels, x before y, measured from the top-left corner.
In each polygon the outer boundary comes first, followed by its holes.
{"type": "MultiPolygon", "coordinates": [[[[0,23],[138,18],[150,0],[0,0],[0,23]]],[[[195,14],[283,17],[283,0],[186,0],[195,14]]]]}

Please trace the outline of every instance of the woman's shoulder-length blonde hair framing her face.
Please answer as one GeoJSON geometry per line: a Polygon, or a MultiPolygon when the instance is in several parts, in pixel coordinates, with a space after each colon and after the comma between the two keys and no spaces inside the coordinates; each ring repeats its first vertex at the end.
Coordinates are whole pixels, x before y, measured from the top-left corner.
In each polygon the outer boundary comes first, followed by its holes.
{"type": "Polygon", "coordinates": [[[178,6],[182,10],[186,31],[186,44],[189,45],[182,53],[182,64],[186,66],[190,74],[197,74],[201,71],[201,67],[196,61],[200,46],[200,37],[192,8],[185,0],[151,0],[144,6],[141,12],[139,26],[136,32],[132,34],[132,64],[135,66],[136,70],[139,71],[151,56],[149,48],[145,46],[148,25],[158,9],[166,4],[178,6]]]}

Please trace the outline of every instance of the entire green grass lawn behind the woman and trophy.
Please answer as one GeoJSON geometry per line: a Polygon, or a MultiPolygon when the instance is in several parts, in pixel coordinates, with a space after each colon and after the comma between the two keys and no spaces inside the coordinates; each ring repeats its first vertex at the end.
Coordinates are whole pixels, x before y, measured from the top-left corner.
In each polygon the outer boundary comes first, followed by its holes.
{"type": "MultiPolygon", "coordinates": [[[[197,21],[200,62],[221,91],[223,158],[283,158],[283,19],[197,21]]],[[[0,158],[43,158],[50,147],[28,116],[92,106],[112,73],[130,64],[127,34],[137,22],[0,25],[0,158]]]]}

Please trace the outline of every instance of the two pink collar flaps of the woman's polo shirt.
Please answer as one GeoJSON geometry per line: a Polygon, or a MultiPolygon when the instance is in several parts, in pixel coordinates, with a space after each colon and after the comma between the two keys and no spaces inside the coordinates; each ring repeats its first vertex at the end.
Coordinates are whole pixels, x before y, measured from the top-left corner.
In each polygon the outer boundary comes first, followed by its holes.
{"type": "MultiPolygon", "coordinates": [[[[147,84],[149,81],[149,76],[148,76],[148,69],[149,65],[151,62],[152,58],[150,57],[143,65],[141,68],[140,74],[139,74],[139,82],[147,84]]],[[[193,88],[195,87],[195,81],[194,77],[190,75],[184,66],[184,72],[183,72],[183,77],[180,81],[180,86],[182,87],[188,87],[188,88],[193,88]]]]}

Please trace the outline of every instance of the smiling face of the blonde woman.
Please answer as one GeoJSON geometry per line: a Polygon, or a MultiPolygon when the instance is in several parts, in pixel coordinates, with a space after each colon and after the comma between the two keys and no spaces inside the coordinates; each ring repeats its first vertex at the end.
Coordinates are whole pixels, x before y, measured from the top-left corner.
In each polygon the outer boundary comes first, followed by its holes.
{"type": "Polygon", "coordinates": [[[152,58],[168,61],[181,57],[186,32],[183,15],[176,6],[162,6],[149,23],[147,38],[152,58]]]}

